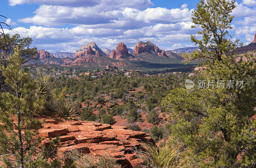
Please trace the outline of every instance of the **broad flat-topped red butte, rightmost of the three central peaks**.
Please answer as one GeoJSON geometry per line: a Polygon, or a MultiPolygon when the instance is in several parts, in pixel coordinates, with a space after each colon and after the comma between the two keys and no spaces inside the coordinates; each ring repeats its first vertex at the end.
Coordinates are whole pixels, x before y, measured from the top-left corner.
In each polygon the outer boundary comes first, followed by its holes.
{"type": "Polygon", "coordinates": [[[133,54],[140,54],[142,52],[160,52],[160,49],[152,42],[138,42],[133,50],[133,54]]]}

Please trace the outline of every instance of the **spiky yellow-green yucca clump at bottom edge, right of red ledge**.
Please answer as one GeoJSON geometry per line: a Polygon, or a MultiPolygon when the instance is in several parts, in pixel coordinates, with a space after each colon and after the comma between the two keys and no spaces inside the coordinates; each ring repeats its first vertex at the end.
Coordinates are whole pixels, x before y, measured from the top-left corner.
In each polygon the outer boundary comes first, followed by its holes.
{"type": "Polygon", "coordinates": [[[137,151],[138,157],[144,161],[147,168],[183,168],[186,160],[180,157],[180,152],[166,143],[163,147],[144,143],[146,151],[137,151]]]}

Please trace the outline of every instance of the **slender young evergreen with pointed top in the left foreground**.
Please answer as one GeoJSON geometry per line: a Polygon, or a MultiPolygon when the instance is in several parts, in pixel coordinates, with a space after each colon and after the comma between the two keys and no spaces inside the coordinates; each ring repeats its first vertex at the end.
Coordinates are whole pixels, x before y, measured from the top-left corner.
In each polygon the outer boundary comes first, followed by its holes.
{"type": "Polygon", "coordinates": [[[36,81],[27,68],[22,67],[25,57],[16,48],[9,55],[8,64],[0,70],[10,92],[0,94],[0,160],[5,167],[60,167],[58,159],[50,159],[56,153],[58,138],[49,148],[39,149],[41,139],[38,129],[41,122],[34,113],[44,109],[44,97],[36,96],[36,81]]]}

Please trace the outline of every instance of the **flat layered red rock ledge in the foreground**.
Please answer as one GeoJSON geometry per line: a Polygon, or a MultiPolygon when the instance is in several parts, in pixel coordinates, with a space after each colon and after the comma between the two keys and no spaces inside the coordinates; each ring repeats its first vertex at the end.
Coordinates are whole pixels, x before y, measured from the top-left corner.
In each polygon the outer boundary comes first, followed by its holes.
{"type": "Polygon", "coordinates": [[[142,149],[142,142],[153,142],[152,138],[140,131],[128,130],[124,126],[110,126],[109,124],[90,121],[66,121],[43,123],[39,135],[45,137],[42,145],[49,145],[49,137],[60,134],[60,148],[58,157],[64,157],[66,152],[77,149],[94,156],[109,154],[122,167],[137,168],[142,161],[132,153],[134,149],[142,149]]]}

